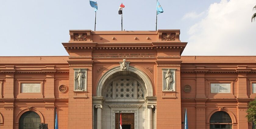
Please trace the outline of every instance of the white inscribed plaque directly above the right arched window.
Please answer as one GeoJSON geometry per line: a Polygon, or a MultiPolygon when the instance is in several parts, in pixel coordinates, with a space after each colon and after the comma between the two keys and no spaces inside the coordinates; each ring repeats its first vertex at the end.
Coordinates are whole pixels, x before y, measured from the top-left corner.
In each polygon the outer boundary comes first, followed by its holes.
{"type": "Polygon", "coordinates": [[[230,83],[211,83],[211,93],[231,93],[230,83]]]}

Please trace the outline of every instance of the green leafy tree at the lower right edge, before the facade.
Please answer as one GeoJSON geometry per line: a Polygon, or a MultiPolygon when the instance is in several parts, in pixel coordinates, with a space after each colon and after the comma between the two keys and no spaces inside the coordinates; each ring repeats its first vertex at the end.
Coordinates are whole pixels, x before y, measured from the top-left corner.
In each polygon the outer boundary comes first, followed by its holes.
{"type": "Polygon", "coordinates": [[[247,112],[247,115],[246,115],[247,120],[249,122],[253,122],[255,126],[256,125],[256,98],[248,104],[248,109],[246,112],[247,112]]]}

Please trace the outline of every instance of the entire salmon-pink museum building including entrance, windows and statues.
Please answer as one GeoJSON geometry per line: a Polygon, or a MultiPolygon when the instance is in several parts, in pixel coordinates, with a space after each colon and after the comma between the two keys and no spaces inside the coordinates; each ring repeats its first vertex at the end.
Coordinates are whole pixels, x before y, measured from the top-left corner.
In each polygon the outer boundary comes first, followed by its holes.
{"type": "MultiPolygon", "coordinates": [[[[181,56],[180,30],[70,30],[69,56],[0,57],[0,129],[251,129],[256,56],[181,56]]],[[[200,46],[198,46],[200,47],[200,46]]]]}

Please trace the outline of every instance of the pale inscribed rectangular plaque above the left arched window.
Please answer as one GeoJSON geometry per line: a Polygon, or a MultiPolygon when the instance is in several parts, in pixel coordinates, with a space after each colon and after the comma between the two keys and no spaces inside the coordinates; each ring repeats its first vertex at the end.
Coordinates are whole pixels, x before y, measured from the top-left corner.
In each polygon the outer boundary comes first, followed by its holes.
{"type": "Polygon", "coordinates": [[[21,93],[41,93],[41,83],[22,83],[21,93]]]}

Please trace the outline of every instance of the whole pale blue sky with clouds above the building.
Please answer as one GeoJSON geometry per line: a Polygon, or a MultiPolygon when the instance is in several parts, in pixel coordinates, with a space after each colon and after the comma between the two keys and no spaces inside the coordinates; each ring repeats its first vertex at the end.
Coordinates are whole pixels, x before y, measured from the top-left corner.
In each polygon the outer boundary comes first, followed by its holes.
{"type": "MultiPolygon", "coordinates": [[[[158,29],[180,29],[182,56],[255,56],[255,0],[158,0],[158,29]]],[[[97,0],[96,31],[155,30],[156,0],[97,0]]],[[[0,0],[0,56],[68,56],[69,30],[94,30],[89,0],[0,0]]]]}

